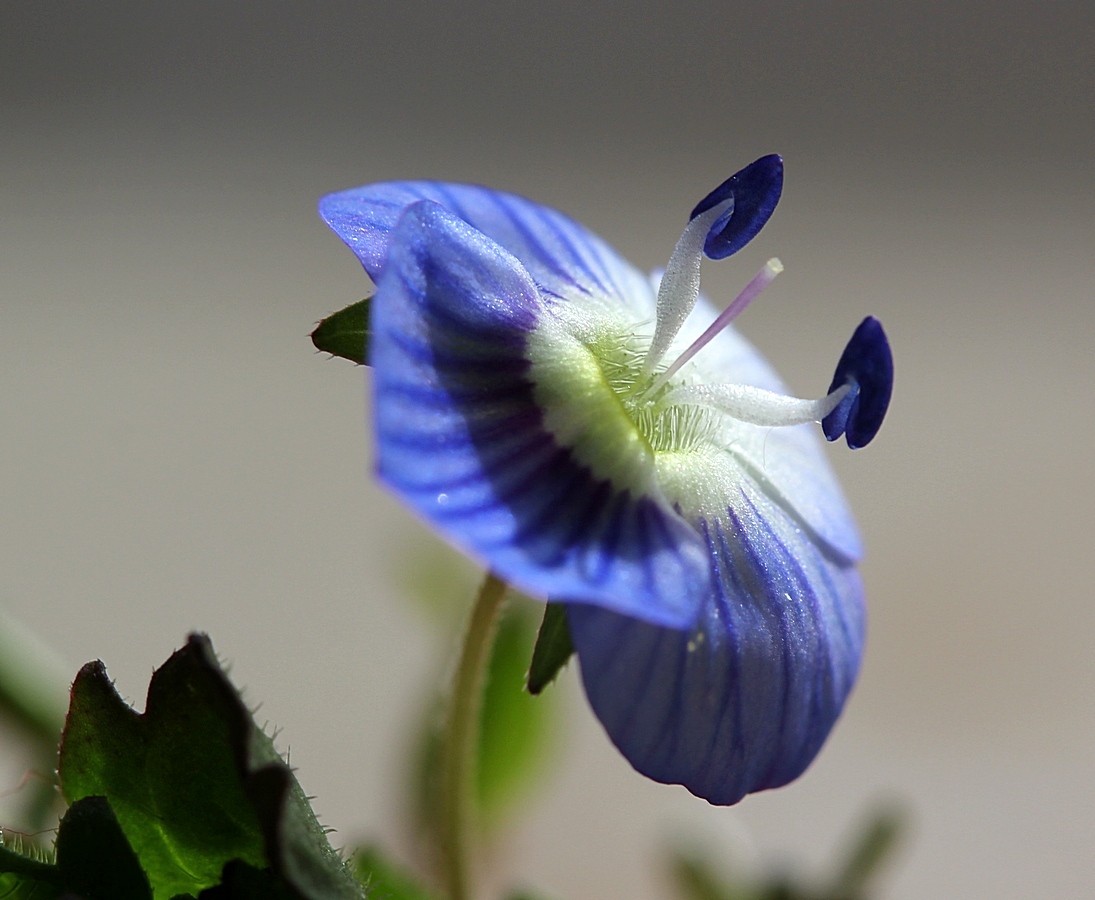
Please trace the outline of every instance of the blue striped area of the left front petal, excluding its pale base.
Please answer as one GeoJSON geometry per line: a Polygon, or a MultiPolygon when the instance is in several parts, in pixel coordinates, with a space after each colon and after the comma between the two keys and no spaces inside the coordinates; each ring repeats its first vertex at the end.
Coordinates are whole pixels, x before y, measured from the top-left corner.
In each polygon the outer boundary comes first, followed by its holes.
{"type": "Polygon", "coordinates": [[[544,425],[527,347],[553,303],[525,266],[428,200],[387,254],[372,313],[380,477],[522,590],[691,624],[711,578],[699,533],[544,425]]]}

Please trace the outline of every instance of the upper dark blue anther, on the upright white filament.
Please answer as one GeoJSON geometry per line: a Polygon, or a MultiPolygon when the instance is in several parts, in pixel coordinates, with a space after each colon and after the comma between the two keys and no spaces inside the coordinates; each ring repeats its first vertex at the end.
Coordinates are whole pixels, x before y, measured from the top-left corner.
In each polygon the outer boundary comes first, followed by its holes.
{"type": "Polygon", "coordinates": [[[771,218],[783,191],[783,160],[772,153],[730,175],[692,210],[689,221],[724,200],[733,205],[707,232],[703,252],[711,259],[725,259],[748,244],[771,218]]]}

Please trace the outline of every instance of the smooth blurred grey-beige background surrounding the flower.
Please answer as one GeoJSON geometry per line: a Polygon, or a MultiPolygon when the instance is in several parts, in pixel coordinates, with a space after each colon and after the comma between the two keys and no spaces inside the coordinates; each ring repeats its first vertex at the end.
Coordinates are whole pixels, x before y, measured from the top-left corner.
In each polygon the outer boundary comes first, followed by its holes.
{"type": "Polygon", "coordinates": [[[666,897],[681,834],[818,869],[897,796],[886,897],[1091,897],[1093,9],[2,4],[0,611],[56,683],[102,658],[138,704],[210,632],[336,842],[405,852],[393,772],[450,646],[393,563],[433,539],[371,481],[367,373],[308,339],[368,288],[316,198],[483,182],[653,268],[776,151],[780,210],[704,286],[782,257],[740,327],[802,395],[863,315],[890,334],[889,420],[831,451],[869,554],[860,686],[805,777],[715,809],[632,773],[569,671],[497,878],[666,897]]]}

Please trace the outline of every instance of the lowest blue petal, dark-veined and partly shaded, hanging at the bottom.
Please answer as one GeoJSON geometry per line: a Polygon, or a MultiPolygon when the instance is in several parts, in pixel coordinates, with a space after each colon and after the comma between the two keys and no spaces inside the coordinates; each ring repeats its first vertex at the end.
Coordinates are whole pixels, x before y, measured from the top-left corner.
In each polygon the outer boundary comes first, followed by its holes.
{"type": "Polygon", "coordinates": [[[825,742],[858,669],[863,592],[748,480],[699,524],[716,580],[694,628],[567,612],[586,694],[624,757],[729,805],[794,780],[825,742]]]}

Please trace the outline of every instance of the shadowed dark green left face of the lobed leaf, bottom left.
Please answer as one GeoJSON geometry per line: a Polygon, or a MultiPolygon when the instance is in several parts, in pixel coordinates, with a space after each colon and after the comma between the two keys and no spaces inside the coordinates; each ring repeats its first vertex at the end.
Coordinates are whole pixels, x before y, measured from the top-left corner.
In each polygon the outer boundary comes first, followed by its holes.
{"type": "Polygon", "coordinates": [[[102,662],[84,666],[72,685],[65,797],[110,799],[157,898],[218,884],[233,858],[266,865],[242,783],[249,717],[205,649],[192,638],[153,673],[143,715],[118,696],[102,662]]]}

